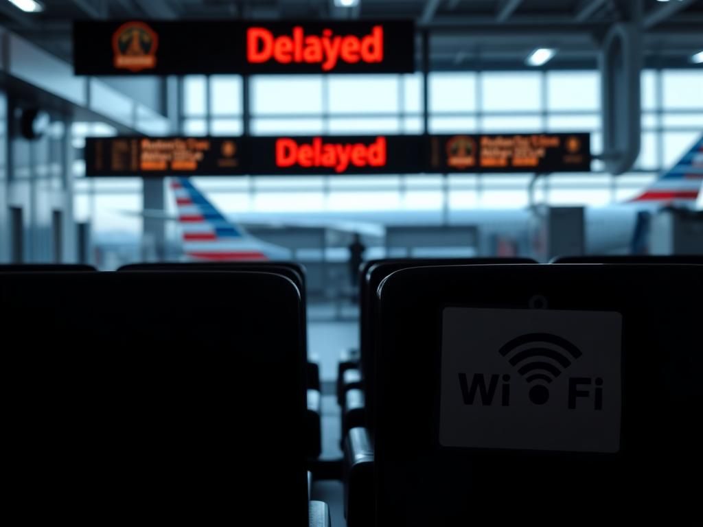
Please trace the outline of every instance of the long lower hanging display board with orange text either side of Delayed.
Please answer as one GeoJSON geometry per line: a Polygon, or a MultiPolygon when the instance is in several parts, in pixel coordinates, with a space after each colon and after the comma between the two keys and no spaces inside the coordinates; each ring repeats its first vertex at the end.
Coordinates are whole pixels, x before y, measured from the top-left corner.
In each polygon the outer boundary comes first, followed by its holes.
{"type": "Polygon", "coordinates": [[[87,138],[87,176],[591,170],[589,134],[87,138]]]}

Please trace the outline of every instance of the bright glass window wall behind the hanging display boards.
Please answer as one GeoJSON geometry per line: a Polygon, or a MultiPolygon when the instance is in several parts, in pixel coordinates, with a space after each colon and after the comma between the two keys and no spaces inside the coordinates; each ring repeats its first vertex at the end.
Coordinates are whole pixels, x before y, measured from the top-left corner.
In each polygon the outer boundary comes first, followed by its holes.
{"type": "MultiPolygon", "coordinates": [[[[248,82],[247,112],[239,76],[180,79],[181,133],[239,135],[245,129],[245,115],[254,135],[423,132],[420,74],[257,76],[248,82]]],[[[428,84],[430,133],[591,131],[593,152],[602,151],[598,72],[432,72],[428,84]]],[[[702,133],[702,93],[700,68],[645,70],[642,151],[633,171],[613,177],[594,162],[592,173],[554,174],[540,181],[536,200],[598,206],[635,195],[702,133]]],[[[77,148],[86,135],[112,134],[111,126],[100,123],[75,123],[72,128],[77,148]]],[[[84,165],[78,161],[77,219],[92,222],[94,238],[115,243],[138,238],[141,218],[134,213],[141,208],[141,180],[86,180],[83,174],[84,165]]],[[[441,214],[443,208],[515,209],[528,204],[530,178],[529,174],[446,179],[441,174],[257,176],[195,178],[195,183],[225,212],[275,219],[278,213],[296,212],[441,214]]]]}

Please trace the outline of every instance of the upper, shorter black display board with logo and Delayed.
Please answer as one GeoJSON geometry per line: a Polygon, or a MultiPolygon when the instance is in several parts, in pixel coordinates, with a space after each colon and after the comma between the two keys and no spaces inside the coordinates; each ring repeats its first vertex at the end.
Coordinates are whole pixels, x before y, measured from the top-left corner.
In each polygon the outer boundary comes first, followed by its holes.
{"type": "Polygon", "coordinates": [[[77,20],[77,75],[411,73],[411,20],[77,20]]]}

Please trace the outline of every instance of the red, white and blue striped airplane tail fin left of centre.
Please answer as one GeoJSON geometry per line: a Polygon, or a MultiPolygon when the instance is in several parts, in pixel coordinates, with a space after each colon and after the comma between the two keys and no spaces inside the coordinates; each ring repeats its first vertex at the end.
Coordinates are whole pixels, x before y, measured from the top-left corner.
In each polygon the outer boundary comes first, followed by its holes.
{"type": "Polygon", "coordinates": [[[266,260],[261,244],[228,221],[188,178],[172,178],[183,251],[198,260],[266,260]]]}

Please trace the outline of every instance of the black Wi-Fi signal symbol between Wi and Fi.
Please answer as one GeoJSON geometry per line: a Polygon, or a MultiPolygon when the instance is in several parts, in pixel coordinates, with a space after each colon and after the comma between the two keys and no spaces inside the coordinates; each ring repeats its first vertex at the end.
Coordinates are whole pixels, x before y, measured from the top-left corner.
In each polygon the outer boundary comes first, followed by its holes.
{"type": "Polygon", "coordinates": [[[582,353],[567,339],[551,333],[528,333],[503,345],[498,353],[508,359],[531,384],[529,400],[536,405],[549,401],[551,384],[582,353]]]}

